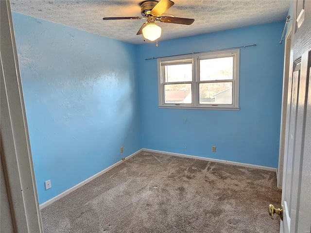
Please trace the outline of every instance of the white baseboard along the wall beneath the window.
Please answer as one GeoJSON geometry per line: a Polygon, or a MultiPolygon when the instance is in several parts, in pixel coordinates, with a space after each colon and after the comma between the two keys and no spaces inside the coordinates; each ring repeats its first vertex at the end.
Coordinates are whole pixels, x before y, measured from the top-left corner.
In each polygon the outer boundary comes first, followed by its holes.
{"type": "Polygon", "coordinates": [[[206,158],[206,157],[200,157],[200,156],[194,156],[194,155],[188,155],[188,154],[179,154],[179,153],[173,153],[173,152],[166,152],[166,151],[161,151],[161,150],[150,150],[150,149],[145,149],[145,148],[143,148],[142,150],[143,151],[147,151],[147,152],[155,152],[155,153],[159,153],[159,154],[168,154],[168,155],[179,156],[179,157],[184,157],[184,158],[200,159],[200,160],[216,162],[216,163],[221,163],[221,164],[245,166],[245,167],[250,167],[250,168],[255,168],[255,169],[260,169],[260,170],[267,170],[267,171],[274,171],[274,172],[276,172],[276,168],[269,167],[269,166],[259,166],[259,165],[253,165],[253,164],[243,164],[243,163],[232,162],[232,161],[227,161],[227,160],[211,159],[211,158],[206,158]]]}

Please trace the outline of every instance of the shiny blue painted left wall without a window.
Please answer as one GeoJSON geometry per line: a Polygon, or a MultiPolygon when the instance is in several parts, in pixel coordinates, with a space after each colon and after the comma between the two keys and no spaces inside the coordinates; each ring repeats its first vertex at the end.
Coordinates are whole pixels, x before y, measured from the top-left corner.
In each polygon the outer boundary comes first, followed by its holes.
{"type": "Polygon", "coordinates": [[[136,46],[12,15],[43,203],[142,148],[136,46]]]}

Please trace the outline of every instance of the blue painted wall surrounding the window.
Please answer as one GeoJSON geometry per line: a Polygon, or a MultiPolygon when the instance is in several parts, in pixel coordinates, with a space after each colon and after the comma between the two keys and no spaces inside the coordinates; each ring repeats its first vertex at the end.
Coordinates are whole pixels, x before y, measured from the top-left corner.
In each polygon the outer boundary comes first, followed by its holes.
{"type": "Polygon", "coordinates": [[[284,21],[159,41],[159,47],[139,45],[143,148],[277,167],[284,56],[284,45],[278,42],[283,27],[284,21]],[[240,111],[157,107],[156,59],[145,58],[253,44],[257,46],[240,54],[240,111]]]}

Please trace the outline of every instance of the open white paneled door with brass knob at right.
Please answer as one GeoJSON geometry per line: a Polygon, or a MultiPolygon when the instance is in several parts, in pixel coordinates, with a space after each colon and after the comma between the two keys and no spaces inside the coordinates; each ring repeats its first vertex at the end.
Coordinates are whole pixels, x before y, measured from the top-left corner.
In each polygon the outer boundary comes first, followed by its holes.
{"type": "Polygon", "coordinates": [[[311,1],[294,2],[280,232],[311,231],[311,1]]]}

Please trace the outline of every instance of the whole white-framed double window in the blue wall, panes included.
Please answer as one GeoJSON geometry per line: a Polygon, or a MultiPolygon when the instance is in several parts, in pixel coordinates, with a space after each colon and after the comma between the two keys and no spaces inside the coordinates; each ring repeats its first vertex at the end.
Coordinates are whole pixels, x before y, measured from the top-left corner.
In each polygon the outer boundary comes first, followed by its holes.
{"type": "Polygon", "coordinates": [[[239,110],[240,50],[158,58],[160,108],[239,110]]]}

